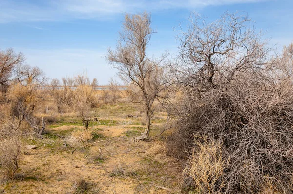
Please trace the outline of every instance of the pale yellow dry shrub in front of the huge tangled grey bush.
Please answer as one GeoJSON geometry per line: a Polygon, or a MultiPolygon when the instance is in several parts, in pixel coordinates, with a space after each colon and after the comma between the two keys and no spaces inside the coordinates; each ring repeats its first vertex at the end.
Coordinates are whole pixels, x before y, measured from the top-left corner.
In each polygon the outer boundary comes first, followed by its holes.
{"type": "Polygon", "coordinates": [[[222,159],[222,146],[220,143],[198,143],[188,161],[184,174],[193,179],[195,188],[201,194],[220,193],[222,175],[225,162],[222,159]]]}

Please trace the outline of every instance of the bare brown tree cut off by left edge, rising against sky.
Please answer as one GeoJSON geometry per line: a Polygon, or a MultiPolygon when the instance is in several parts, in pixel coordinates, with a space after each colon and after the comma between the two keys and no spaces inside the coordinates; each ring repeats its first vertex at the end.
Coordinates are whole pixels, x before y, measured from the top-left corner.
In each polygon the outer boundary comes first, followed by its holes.
{"type": "Polygon", "coordinates": [[[0,87],[5,100],[8,86],[13,79],[13,70],[15,70],[18,65],[21,65],[24,60],[24,55],[21,52],[15,53],[12,48],[6,51],[0,50],[0,87]]]}

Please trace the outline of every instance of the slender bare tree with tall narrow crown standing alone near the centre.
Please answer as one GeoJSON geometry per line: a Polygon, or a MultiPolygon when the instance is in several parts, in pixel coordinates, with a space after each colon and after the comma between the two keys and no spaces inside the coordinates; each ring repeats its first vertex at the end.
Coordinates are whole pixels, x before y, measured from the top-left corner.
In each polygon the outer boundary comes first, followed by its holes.
{"type": "Polygon", "coordinates": [[[108,49],[106,56],[112,67],[118,70],[120,77],[126,83],[137,87],[142,97],[139,102],[146,112],[146,129],[142,136],[136,138],[137,140],[144,140],[149,136],[152,104],[164,85],[158,82],[160,84],[153,87],[154,80],[151,79],[157,75],[161,61],[151,61],[146,54],[146,48],[154,33],[150,25],[151,18],[147,13],[126,14],[116,50],[108,49]]]}

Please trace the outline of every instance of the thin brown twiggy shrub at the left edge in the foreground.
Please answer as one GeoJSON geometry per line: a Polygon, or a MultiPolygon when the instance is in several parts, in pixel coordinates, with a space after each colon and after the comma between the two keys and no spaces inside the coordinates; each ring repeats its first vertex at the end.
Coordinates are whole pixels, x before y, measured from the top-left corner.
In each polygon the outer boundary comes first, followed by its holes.
{"type": "Polygon", "coordinates": [[[2,178],[14,179],[21,160],[22,146],[18,137],[2,140],[0,143],[0,169],[2,178]]]}

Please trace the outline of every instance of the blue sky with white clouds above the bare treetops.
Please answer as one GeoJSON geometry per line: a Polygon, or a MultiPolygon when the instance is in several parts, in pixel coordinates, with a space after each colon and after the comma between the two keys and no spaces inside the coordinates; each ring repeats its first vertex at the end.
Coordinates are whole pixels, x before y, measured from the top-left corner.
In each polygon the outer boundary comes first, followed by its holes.
{"type": "Polygon", "coordinates": [[[293,40],[293,0],[0,0],[0,49],[22,51],[49,78],[85,69],[104,85],[116,78],[104,56],[119,38],[124,14],[143,11],[151,12],[158,31],[148,49],[155,56],[176,52],[173,28],[185,25],[191,11],[211,21],[225,11],[246,12],[279,51],[293,40]]]}

